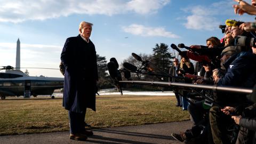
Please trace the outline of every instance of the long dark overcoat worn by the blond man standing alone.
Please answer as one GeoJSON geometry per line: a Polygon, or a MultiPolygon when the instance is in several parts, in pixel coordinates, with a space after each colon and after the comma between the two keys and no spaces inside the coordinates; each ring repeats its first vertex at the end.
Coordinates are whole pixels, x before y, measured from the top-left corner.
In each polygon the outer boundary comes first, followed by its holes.
{"type": "Polygon", "coordinates": [[[86,108],[95,109],[95,86],[98,68],[95,46],[78,35],[69,37],[61,52],[65,66],[63,107],[75,113],[85,113],[86,108]]]}

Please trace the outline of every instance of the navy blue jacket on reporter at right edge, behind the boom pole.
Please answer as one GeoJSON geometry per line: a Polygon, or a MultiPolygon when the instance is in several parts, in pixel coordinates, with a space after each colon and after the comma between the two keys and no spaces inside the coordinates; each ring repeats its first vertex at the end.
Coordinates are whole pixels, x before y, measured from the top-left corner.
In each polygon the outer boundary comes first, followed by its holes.
{"type": "MultiPolygon", "coordinates": [[[[252,88],[256,82],[256,54],[241,52],[238,55],[233,55],[230,59],[227,73],[217,85],[252,88]]],[[[218,93],[215,101],[224,106],[234,106],[247,101],[247,99],[244,94],[218,93]]]]}

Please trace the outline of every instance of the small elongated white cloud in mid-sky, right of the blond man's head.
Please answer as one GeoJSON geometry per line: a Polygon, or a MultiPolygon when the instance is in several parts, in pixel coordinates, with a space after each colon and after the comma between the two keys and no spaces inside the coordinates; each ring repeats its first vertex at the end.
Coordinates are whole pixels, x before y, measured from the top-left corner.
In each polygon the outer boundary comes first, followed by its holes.
{"type": "Polygon", "coordinates": [[[163,27],[145,27],[143,25],[132,24],[130,26],[123,27],[126,33],[140,36],[162,36],[170,38],[179,38],[178,35],[172,34],[170,31],[166,31],[163,27]]]}

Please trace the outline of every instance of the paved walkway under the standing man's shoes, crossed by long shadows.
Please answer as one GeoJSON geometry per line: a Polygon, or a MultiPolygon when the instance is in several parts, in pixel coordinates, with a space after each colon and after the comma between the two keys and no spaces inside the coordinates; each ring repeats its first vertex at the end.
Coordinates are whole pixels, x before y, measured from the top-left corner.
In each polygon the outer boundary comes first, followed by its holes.
{"type": "Polygon", "coordinates": [[[174,140],[171,133],[184,132],[192,126],[190,121],[148,124],[139,126],[122,126],[107,129],[94,129],[94,135],[86,141],[69,139],[69,132],[54,132],[40,134],[22,134],[0,136],[0,143],[182,143],[174,140]]]}

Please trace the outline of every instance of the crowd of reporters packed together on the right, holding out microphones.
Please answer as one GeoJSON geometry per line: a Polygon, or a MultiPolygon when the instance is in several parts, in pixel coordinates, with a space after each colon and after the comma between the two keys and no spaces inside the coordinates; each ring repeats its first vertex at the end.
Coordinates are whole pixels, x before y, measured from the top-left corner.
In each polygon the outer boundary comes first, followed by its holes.
{"type": "MultiPolygon", "coordinates": [[[[256,14],[255,0],[251,5],[234,1],[238,2],[233,6],[235,13],[256,14]]],[[[228,19],[220,28],[223,38],[210,37],[206,39],[206,46],[179,44],[187,51],[179,51],[181,61],[174,59],[169,74],[189,77],[194,84],[254,87],[255,95],[256,23],[228,19]],[[189,59],[197,61],[195,68],[189,59]]],[[[249,98],[253,93],[201,91],[209,101],[197,99],[193,91],[175,89],[174,92],[177,106],[189,110],[194,126],[180,134],[172,133],[173,138],[185,143],[256,143],[256,101],[249,98]]]]}

